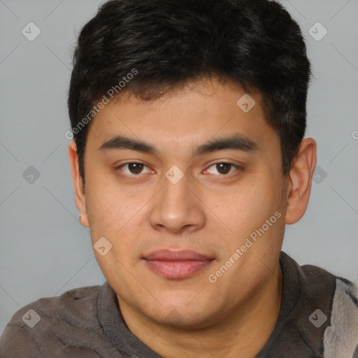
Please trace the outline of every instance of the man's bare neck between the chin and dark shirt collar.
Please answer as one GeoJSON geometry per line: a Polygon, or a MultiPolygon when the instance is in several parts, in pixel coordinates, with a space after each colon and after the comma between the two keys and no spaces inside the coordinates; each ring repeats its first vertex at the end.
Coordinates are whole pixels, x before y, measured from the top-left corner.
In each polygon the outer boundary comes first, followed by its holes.
{"type": "Polygon", "coordinates": [[[280,314],[282,273],[276,267],[264,285],[234,312],[205,329],[178,329],[158,324],[117,296],[124,321],[131,332],[159,355],[187,358],[254,358],[268,341],[280,314]]]}

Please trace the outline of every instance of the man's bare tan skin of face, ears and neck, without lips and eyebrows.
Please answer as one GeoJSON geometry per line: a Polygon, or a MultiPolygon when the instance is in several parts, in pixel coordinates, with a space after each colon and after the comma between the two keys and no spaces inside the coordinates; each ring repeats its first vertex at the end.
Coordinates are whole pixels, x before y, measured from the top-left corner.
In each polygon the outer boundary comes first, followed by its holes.
{"type": "Polygon", "coordinates": [[[142,101],[122,94],[91,123],[85,150],[85,194],[76,144],[69,158],[76,205],[92,245],[113,245],[97,262],[117,293],[127,326],[167,358],[255,357],[271,336],[280,313],[282,274],[278,262],[285,224],[308,206],[316,143],[301,142],[289,176],[282,176],[280,142],[264,120],[259,94],[244,113],[244,94],[233,83],[200,80],[142,101]],[[198,145],[241,134],[259,150],[216,150],[192,156],[198,145]],[[113,136],[141,139],[157,154],[99,150],[113,136]],[[141,171],[126,163],[145,164],[141,171]],[[232,163],[226,171],[215,164],[232,163]],[[165,173],[184,174],[173,184],[165,173]],[[229,173],[228,173],[229,172],[229,173]],[[246,238],[274,213],[281,217],[216,282],[215,273],[246,238]],[[215,257],[189,278],[167,279],[141,259],[153,250],[194,250],[215,257]],[[176,320],[173,320],[173,317],[176,320]]]}

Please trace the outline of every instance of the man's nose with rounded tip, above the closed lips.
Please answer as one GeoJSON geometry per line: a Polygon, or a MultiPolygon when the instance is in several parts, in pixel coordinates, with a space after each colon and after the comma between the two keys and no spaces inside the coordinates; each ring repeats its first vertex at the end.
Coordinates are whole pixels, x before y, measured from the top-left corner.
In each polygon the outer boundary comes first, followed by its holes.
{"type": "Polygon", "coordinates": [[[164,178],[162,189],[151,201],[151,226],[171,234],[201,229],[206,221],[201,190],[185,175],[176,183],[164,178]]]}

